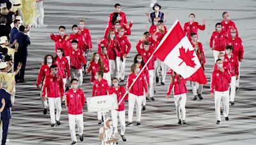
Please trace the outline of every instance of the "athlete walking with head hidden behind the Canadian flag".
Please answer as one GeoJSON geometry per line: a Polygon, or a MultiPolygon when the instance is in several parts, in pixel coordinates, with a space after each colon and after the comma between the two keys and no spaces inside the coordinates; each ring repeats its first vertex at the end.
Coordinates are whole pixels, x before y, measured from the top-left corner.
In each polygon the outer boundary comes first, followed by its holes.
{"type": "Polygon", "coordinates": [[[174,102],[176,107],[176,114],[179,120],[179,125],[185,125],[185,118],[186,118],[186,100],[187,100],[187,87],[186,87],[186,79],[182,78],[179,74],[173,71],[171,76],[171,83],[168,88],[168,92],[166,93],[166,99],[169,98],[173,90],[174,102]]]}

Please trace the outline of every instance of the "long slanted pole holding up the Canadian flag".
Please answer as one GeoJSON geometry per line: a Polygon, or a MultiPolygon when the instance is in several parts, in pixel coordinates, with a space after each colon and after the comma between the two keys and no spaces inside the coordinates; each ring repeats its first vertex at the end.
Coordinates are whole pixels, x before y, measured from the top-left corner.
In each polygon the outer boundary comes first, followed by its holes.
{"type": "Polygon", "coordinates": [[[128,90],[125,92],[125,94],[123,95],[122,99],[118,102],[118,106],[121,104],[122,100],[124,100],[125,95],[127,95],[127,93],[129,92],[129,90],[132,88],[132,86],[134,85],[135,81],[139,78],[140,74],[144,71],[144,69],[147,67],[149,61],[153,58],[154,53],[156,53],[156,51],[158,50],[158,48],[162,45],[163,41],[167,38],[168,34],[170,34],[170,32],[172,31],[173,27],[177,24],[177,22],[179,22],[179,20],[176,20],[172,27],[169,29],[169,31],[164,35],[164,38],[161,40],[161,42],[159,43],[159,45],[157,45],[156,50],[152,53],[152,55],[149,57],[149,59],[147,60],[146,64],[142,67],[142,69],[140,70],[139,74],[136,76],[136,78],[134,79],[134,81],[132,82],[131,86],[128,88],[128,90]]]}

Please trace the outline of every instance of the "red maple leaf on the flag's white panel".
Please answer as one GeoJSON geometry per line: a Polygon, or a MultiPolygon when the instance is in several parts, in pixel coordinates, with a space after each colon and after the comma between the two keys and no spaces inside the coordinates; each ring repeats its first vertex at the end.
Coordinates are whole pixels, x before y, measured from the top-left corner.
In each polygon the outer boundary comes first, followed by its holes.
{"type": "Polygon", "coordinates": [[[187,50],[187,52],[185,52],[185,48],[183,48],[181,46],[181,48],[179,49],[180,50],[180,56],[179,58],[182,59],[183,61],[179,64],[179,66],[185,62],[187,66],[190,66],[190,67],[195,67],[196,64],[194,62],[194,60],[192,60],[195,56],[193,56],[193,53],[195,52],[194,50],[187,50]]]}

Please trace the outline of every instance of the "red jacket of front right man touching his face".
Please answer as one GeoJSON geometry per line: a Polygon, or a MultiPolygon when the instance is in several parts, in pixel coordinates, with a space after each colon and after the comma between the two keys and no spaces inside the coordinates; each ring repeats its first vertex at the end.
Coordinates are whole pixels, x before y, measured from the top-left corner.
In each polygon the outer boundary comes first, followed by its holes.
{"type": "Polygon", "coordinates": [[[231,76],[227,69],[224,72],[221,72],[219,69],[216,69],[212,72],[211,76],[211,93],[214,90],[218,92],[225,92],[229,88],[229,83],[231,82],[231,76]]]}

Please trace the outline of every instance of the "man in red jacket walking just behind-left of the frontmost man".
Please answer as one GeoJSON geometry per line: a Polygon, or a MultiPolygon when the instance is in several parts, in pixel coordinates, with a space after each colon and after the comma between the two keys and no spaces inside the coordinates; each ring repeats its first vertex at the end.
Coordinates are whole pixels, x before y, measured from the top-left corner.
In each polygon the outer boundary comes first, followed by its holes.
{"type": "Polygon", "coordinates": [[[48,74],[45,77],[42,87],[42,97],[46,100],[45,95],[47,94],[51,116],[51,127],[54,127],[56,122],[57,125],[60,125],[61,100],[64,98],[64,88],[61,74],[58,74],[58,66],[52,64],[50,68],[51,74],[48,74]],[[57,110],[56,117],[55,109],[57,110]]]}

